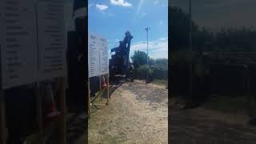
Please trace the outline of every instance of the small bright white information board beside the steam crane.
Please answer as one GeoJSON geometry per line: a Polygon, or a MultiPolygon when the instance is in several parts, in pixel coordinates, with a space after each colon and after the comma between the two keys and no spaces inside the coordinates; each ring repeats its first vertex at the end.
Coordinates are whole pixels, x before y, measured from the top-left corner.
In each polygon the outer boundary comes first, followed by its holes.
{"type": "Polygon", "coordinates": [[[107,40],[98,34],[88,33],[88,66],[89,78],[109,73],[107,40]]]}

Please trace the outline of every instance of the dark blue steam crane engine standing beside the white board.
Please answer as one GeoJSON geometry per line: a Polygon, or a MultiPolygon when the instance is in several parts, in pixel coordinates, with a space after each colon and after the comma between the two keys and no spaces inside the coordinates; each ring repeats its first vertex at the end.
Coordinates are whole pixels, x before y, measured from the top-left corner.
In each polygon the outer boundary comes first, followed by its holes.
{"type": "Polygon", "coordinates": [[[126,31],[126,36],[123,41],[119,41],[119,46],[111,49],[110,59],[110,79],[114,80],[116,75],[126,75],[126,78],[130,75],[131,62],[129,61],[130,54],[130,40],[133,36],[130,31],[126,31]],[[113,54],[114,53],[114,54],[113,54]]]}

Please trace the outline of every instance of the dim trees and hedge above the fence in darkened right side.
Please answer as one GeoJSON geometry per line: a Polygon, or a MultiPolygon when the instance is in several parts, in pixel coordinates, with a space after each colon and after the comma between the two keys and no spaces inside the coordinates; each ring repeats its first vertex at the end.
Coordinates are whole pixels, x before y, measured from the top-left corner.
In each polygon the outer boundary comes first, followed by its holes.
{"type": "MultiPolygon", "coordinates": [[[[181,8],[170,8],[170,48],[172,52],[189,48],[189,15],[181,8]]],[[[256,51],[256,30],[253,27],[222,28],[213,33],[199,27],[192,20],[192,46],[194,51],[256,51]]]]}

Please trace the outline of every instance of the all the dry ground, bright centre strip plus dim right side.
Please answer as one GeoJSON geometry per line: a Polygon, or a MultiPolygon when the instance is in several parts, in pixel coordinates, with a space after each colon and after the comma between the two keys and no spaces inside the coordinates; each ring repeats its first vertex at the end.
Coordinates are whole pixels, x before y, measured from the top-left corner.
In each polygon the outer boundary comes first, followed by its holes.
{"type": "MultiPolygon", "coordinates": [[[[125,82],[111,94],[109,106],[92,106],[89,143],[254,144],[256,126],[246,114],[222,113],[198,107],[172,106],[168,123],[166,86],[125,82]],[[168,127],[169,125],[169,127],[168,127]]],[[[176,104],[177,105],[177,104],[176,104]]],[[[80,125],[79,125],[80,126],[80,125]]],[[[76,144],[85,143],[82,135],[76,144]]]]}

